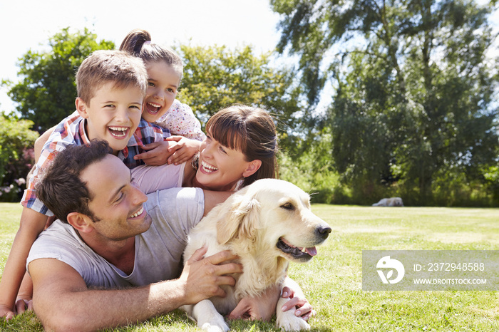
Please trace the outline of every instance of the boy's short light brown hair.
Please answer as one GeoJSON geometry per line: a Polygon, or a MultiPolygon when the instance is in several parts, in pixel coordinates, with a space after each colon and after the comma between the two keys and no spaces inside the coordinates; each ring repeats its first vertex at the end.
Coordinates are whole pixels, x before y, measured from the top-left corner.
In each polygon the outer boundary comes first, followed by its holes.
{"type": "Polygon", "coordinates": [[[136,85],[145,96],[148,72],[140,58],[124,51],[94,51],[81,63],[76,73],[78,97],[90,104],[96,91],[109,82],[114,82],[115,88],[136,85]]]}

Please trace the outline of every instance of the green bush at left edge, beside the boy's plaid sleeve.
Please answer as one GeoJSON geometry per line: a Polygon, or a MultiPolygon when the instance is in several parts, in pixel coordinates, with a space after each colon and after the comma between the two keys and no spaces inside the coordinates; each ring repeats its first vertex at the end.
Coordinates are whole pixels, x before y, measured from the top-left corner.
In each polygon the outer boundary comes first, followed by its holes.
{"type": "Polygon", "coordinates": [[[33,145],[38,133],[33,122],[0,114],[0,202],[19,201],[26,175],[34,165],[33,145]]]}

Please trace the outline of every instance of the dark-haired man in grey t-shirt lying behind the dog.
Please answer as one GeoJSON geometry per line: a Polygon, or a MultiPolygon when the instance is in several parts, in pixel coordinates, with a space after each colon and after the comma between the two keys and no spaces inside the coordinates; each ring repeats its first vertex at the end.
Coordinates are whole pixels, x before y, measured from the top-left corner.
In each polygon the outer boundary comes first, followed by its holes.
{"type": "MultiPolygon", "coordinates": [[[[50,330],[143,321],[224,296],[220,285],[235,284],[226,274],[242,272],[227,263],[236,258],[228,251],[202,258],[199,249],[180,264],[189,229],[230,193],[175,188],[146,196],[108,149],[106,142],[68,147],[36,187],[59,219],[36,240],[27,264],[34,310],[50,330]]],[[[272,312],[278,292],[267,293],[260,305],[272,312]]],[[[307,311],[303,301],[295,304],[307,311]]]]}

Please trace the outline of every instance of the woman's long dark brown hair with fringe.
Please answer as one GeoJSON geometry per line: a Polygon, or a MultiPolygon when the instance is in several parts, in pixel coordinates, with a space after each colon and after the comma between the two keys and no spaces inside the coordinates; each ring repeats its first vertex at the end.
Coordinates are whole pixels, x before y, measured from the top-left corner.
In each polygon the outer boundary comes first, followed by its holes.
{"type": "Polygon", "coordinates": [[[264,178],[277,177],[277,133],[274,119],[262,108],[232,105],[219,110],[206,123],[206,133],[220,144],[239,150],[246,161],[261,160],[253,175],[245,177],[242,187],[264,178]]]}

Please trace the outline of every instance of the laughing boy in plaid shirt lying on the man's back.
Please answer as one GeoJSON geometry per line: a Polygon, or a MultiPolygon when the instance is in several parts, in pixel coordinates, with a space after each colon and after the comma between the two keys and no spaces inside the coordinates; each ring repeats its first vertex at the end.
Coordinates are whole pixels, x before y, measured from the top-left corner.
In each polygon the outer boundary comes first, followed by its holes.
{"type": "MultiPolygon", "coordinates": [[[[141,119],[147,84],[148,74],[143,61],[122,51],[95,51],[81,64],[76,74],[78,113],[59,123],[43,146],[21,201],[19,231],[0,282],[0,316],[8,319],[14,316],[14,302],[26,271],[29,249],[45,227],[48,216],[52,215],[36,198],[34,185],[38,172],[68,145],[88,145],[93,139],[106,140],[113,154],[133,168],[143,163],[133,158],[140,153],[141,145],[164,142],[170,136],[168,130],[141,119]]],[[[168,142],[164,144],[168,145],[168,142]]],[[[31,290],[31,285],[27,287],[31,290]]],[[[17,311],[24,311],[23,298],[31,298],[29,293],[31,291],[19,292],[17,311]]]]}

